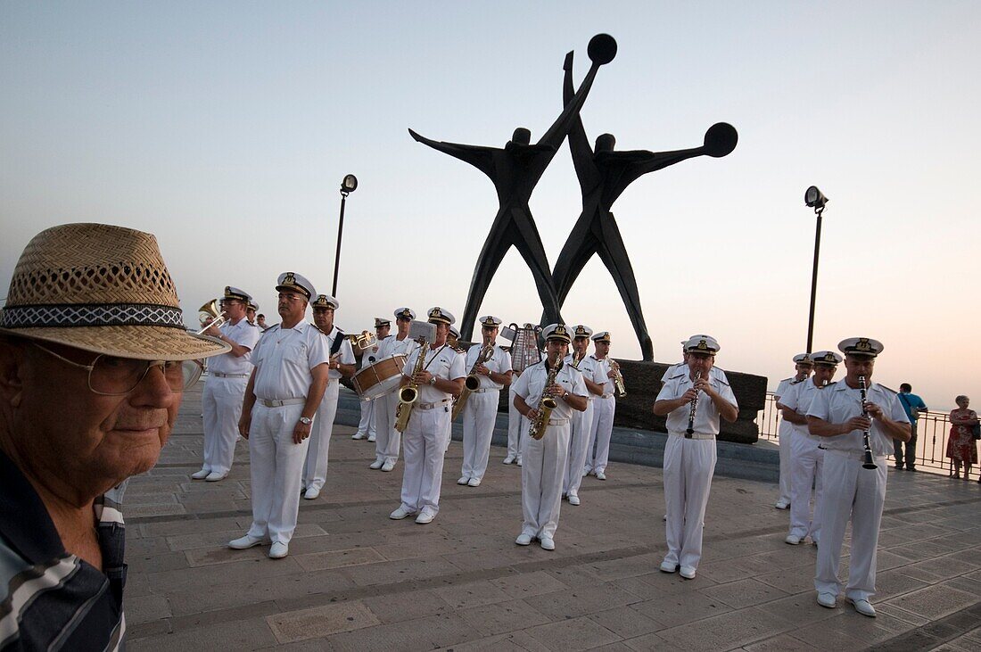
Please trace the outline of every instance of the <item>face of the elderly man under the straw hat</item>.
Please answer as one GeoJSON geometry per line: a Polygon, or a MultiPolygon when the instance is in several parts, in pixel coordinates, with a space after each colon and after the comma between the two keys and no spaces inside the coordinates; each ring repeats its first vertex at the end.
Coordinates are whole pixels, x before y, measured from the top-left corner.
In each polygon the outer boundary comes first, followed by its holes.
{"type": "MultiPolygon", "coordinates": [[[[96,357],[68,346],[43,346],[82,365],[96,357]]],[[[151,368],[129,394],[101,396],[88,388],[87,371],[26,341],[0,341],[0,349],[3,411],[13,417],[10,434],[26,475],[83,505],[156,464],[182,396],[159,367],[151,368]],[[13,367],[11,360],[16,360],[13,367]]]]}

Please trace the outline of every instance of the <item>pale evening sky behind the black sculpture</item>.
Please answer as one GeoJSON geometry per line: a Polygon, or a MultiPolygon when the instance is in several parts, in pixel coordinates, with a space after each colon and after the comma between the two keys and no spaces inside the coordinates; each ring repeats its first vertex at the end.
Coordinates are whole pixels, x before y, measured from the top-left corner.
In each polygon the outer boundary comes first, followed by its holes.
{"type": "MultiPolygon", "coordinates": [[[[635,181],[613,207],[655,359],[713,334],[716,364],[768,376],[803,350],[814,217],[824,214],[815,349],[882,340],[875,379],[931,408],[975,394],[981,105],[976,2],[0,4],[0,299],[37,231],[102,222],[155,233],[188,324],[226,284],[277,323],[276,276],[330,292],[337,188],[350,196],[337,324],[398,306],[460,316],[497,201],[490,180],[413,141],[537,140],[612,34],[582,112],[619,149],[736,151],[635,181]],[[976,186],[974,186],[976,187],[976,186]]],[[[567,145],[532,196],[554,263],[581,210],[567,145]]],[[[541,315],[512,250],[480,314],[541,315]]],[[[563,310],[640,348],[598,259],[563,310]]]]}

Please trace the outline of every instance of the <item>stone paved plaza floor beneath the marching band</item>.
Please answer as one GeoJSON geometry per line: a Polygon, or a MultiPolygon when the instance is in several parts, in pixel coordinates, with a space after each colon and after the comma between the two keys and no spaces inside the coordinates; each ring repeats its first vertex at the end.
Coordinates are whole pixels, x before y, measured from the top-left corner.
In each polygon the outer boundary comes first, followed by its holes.
{"type": "Polygon", "coordinates": [[[160,464],[129,484],[132,650],[981,648],[976,482],[890,472],[873,620],[815,603],[815,549],[783,542],[774,484],[715,477],[702,562],[685,580],[657,570],[660,469],[611,464],[608,480],[584,479],[546,552],[514,544],[521,470],[501,448],[480,487],[461,487],[454,441],[439,516],[418,526],[388,519],[401,462],[370,471],[374,444],[349,426],[335,428],[321,497],[301,500],[289,556],[233,551],[251,520],[247,445],[225,480],[191,481],[201,431],[196,390],[160,464]]]}

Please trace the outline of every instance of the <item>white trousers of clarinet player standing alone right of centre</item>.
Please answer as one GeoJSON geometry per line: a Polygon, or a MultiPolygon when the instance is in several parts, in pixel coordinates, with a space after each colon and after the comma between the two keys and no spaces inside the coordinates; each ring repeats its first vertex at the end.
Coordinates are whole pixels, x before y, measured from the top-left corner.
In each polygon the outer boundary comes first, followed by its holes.
{"type": "Polygon", "coordinates": [[[664,502],[668,519],[664,561],[698,568],[708,492],[715,473],[715,439],[672,434],[664,445],[664,502]]]}

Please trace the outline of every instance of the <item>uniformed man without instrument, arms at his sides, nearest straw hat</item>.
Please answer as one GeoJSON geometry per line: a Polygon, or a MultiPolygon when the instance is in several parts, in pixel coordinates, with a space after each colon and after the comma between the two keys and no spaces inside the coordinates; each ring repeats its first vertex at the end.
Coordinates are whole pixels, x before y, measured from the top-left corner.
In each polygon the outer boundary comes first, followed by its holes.
{"type": "Polygon", "coordinates": [[[303,319],[317,294],[298,274],[281,274],[276,285],[283,323],[263,333],[252,352],[255,369],[245,388],[238,431],[249,440],[252,526],[229,542],[235,550],[272,542],[269,556],[289,554],[296,528],[300,479],[310,430],[327,389],[327,338],[303,319]]]}

